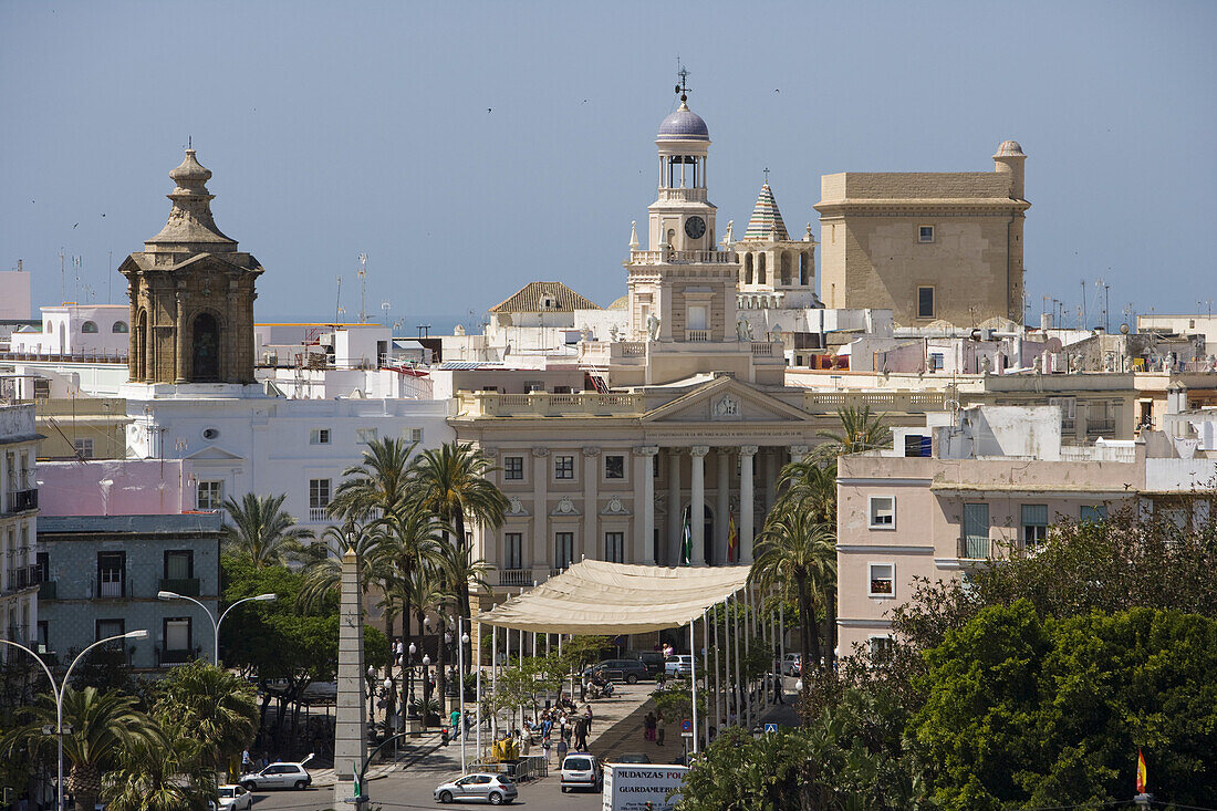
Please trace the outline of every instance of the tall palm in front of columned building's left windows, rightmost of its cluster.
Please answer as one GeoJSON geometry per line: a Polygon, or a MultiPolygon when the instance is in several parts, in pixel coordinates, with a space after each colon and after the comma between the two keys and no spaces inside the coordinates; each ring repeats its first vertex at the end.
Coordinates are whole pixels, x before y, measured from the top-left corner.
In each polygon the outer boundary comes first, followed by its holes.
{"type": "MultiPolygon", "coordinates": [[[[493,470],[489,457],[467,442],[449,442],[425,451],[410,468],[421,507],[452,527],[459,549],[466,547],[466,516],[494,530],[503,525],[507,499],[486,477],[493,470]]],[[[467,620],[472,615],[467,588],[460,591],[458,600],[460,614],[467,620]]],[[[467,654],[466,650],[466,666],[467,654]]]]}

